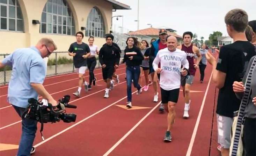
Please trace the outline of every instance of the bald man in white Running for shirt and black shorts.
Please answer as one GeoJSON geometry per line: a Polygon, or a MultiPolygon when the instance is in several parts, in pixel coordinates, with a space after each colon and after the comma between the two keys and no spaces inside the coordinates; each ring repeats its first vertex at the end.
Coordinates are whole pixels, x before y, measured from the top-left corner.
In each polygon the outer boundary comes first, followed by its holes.
{"type": "Polygon", "coordinates": [[[175,105],[178,101],[181,75],[188,75],[189,62],[186,59],[186,53],[176,49],[177,39],[174,36],[167,38],[167,48],[159,50],[154,61],[153,68],[160,74],[160,88],[162,104],[168,107],[167,132],[164,136],[164,142],[171,141],[171,128],[175,120],[175,105]],[[158,64],[161,68],[158,68],[158,64]],[[181,65],[183,68],[181,68],[181,65]]]}

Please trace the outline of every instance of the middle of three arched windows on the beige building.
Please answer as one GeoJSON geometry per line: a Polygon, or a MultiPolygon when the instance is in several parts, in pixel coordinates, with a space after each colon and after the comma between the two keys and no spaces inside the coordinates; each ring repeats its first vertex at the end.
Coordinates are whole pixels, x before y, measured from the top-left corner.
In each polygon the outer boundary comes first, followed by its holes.
{"type": "Polygon", "coordinates": [[[66,0],[48,0],[41,18],[41,33],[75,35],[75,21],[66,0]]]}

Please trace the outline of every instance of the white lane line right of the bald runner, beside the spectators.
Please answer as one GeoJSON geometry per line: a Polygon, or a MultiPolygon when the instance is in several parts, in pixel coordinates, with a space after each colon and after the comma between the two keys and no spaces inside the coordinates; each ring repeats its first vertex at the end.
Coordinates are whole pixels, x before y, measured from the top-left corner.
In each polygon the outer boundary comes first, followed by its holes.
{"type": "Polygon", "coordinates": [[[199,111],[199,114],[198,114],[198,117],[197,117],[197,120],[196,120],[196,125],[195,125],[195,128],[193,130],[193,134],[192,134],[192,137],[191,137],[191,140],[190,140],[190,143],[189,143],[188,151],[186,152],[186,156],[190,156],[191,155],[191,151],[192,151],[193,144],[194,144],[194,141],[195,141],[195,138],[196,138],[196,133],[197,133],[198,125],[199,125],[200,118],[201,118],[201,115],[202,115],[202,112],[203,112],[203,108],[204,108],[204,104],[205,104],[205,99],[206,99],[206,96],[207,96],[207,93],[208,93],[208,90],[209,90],[211,79],[212,79],[212,73],[211,73],[211,77],[210,77],[210,80],[208,82],[205,94],[204,94],[204,99],[203,99],[203,102],[202,102],[202,105],[201,105],[201,108],[200,108],[200,111],[199,111]]]}

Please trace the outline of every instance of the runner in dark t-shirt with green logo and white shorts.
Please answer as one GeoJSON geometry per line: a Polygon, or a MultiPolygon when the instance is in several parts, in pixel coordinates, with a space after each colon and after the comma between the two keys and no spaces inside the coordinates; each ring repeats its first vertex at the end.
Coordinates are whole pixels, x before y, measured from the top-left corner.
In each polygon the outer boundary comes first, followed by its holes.
{"type": "Polygon", "coordinates": [[[78,73],[79,81],[78,81],[78,90],[73,93],[74,96],[79,97],[82,89],[83,82],[85,83],[85,91],[88,91],[88,84],[83,79],[83,74],[87,69],[87,60],[86,58],[90,55],[90,48],[88,44],[83,43],[83,33],[76,33],[76,42],[70,45],[68,49],[68,55],[73,56],[75,71],[78,73]]]}

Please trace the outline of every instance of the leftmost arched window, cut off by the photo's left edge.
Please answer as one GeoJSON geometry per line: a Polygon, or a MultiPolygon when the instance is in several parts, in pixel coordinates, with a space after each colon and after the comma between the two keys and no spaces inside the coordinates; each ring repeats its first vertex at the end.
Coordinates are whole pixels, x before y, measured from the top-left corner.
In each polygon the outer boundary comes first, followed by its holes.
{"type": "Polygon", "coordinates": [[[0,30],[23,31],[23,18],[17,0],[0,0],[0,30]]]}

